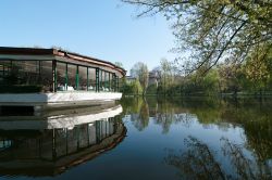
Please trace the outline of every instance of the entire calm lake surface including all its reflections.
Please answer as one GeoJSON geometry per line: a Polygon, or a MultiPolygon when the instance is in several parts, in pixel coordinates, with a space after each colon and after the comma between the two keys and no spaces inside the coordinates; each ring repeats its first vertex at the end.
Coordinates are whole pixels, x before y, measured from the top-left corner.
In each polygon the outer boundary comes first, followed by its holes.
{"type": "Polygon", "coordinates": [[[0,117],[0,179],[272,179],[271,100],[121,105],[0,117]]]}

